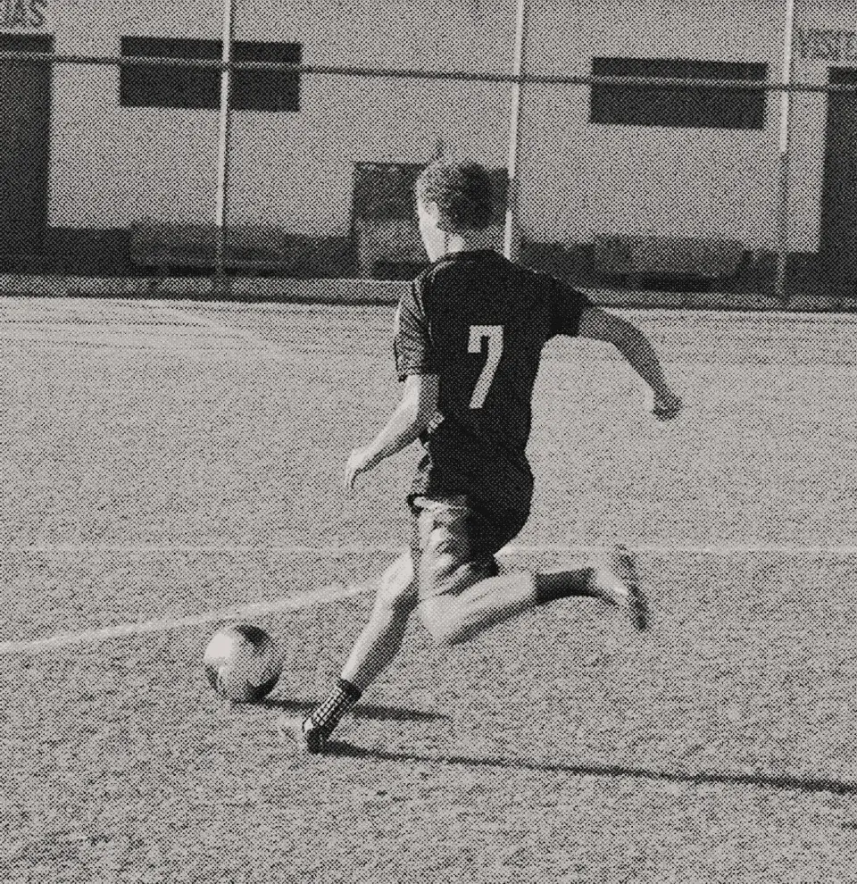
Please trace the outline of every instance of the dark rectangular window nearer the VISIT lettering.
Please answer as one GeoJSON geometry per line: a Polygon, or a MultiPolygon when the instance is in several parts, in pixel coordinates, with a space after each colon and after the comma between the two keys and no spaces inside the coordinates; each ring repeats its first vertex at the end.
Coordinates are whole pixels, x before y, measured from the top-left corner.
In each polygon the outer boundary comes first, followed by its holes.
{"type": "MultiPolygon", "coordinates": [[[[683,59],[594,58],[596,77],[745,79],[763,82],[767,64],[694,62],[683,59]]],[[[594,85],[590,122],[618,126],[675,126],[691,129],[764,129],[762,89],[665,88],[594,85]]]]}

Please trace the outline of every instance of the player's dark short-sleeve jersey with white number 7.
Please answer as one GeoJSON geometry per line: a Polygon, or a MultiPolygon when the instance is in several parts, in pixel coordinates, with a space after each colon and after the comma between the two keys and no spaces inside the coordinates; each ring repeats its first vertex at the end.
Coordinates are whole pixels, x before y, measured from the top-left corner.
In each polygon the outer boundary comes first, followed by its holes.
{"type": "Polygon", "coordinates": [[[587,296],[493,251],[432,264],[395,312],[398,377],[437,374],[438,417],[421,439],[412,496],[514,505],[532,492],[525,449],[542,348],[578,334],[587,296]]]}

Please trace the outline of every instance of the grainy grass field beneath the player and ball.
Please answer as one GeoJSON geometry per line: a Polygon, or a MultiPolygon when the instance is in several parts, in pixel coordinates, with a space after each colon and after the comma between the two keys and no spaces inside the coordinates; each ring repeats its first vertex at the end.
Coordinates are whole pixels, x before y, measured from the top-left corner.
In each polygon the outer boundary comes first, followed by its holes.
{"type": "Polygon", "coordinates": [[[667,425],[603,346],[552,343],[505,561],[621,539],[653,631],[568,602],[444,650],[415,622],[301,759],[277,717],[407,525],[415,453],[339,490],[398,395],[390,318],[0,301],[0,879],[857,881],[857,321],[633,314],[667,425]],[[287,646],[265,705],[204,681],[229,612],[287,646]]]}

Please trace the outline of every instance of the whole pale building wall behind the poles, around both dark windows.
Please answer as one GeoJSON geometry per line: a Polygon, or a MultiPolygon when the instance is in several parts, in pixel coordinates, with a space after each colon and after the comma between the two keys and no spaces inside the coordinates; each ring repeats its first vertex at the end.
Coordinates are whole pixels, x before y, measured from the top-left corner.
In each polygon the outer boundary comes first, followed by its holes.
{"type": "MultiPolygon", "coordinates": [[[[784,16],[770,0],[529,2],[530,71],[586,74],[593,56],[613,55],[761,62],[770,79],[782,75],[784,16]]],[[[306,63],[499,72],[511,67],[513,7],[403,0],[391,15],[368,0],[238,0],[235,36],[300,42],[306,63]]],[[[118,54],[123,35],[218,39],[221,17],[211,0],[47,0],[43,24],[4,29],[53,32],[60,53],[118,54]]],[[[845,0],[798,0],[807,57],[795,52],[795,79],[826,81],[836,58],[827,44],[808,49],[812,34],[854,21],[845,0]]],[[[853,55],[838,63],[857,63],[857,42],[853,55]]],[[[305,75],[300,113],[235,114],[230,220],[344,233],[354,161],[423,162],[443,138],[450,154],[503,165],[509,101],[503,85],[305,75]]],[[[824,96],[796,97],[793,113],[790,246],[813,250],[824,96]]],[[[118,69],[61,66],[53,114],[52,224],[212,220],[216,112],[121,108],[118,69]]],[[[667,129],[590,125],[586,88],[532,86],[522,127],[522,222],[531,238],[657,232],[776,244],[776,95],[761,131],[667,129]]]]}

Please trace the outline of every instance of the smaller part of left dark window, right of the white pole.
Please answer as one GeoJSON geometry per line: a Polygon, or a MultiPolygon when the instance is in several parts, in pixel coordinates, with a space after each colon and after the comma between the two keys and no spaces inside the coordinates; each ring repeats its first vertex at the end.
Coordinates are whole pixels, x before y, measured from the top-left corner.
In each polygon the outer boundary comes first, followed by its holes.
{"type": "MultiPolygon", "coordinates": [[[[232,46],[233,62],[301,63],[299,43],[243,43],[232,46]]],[[[301,75],[297,71],[235,71],[232,106],[238,111],[299,111],[301,75]]]]}

